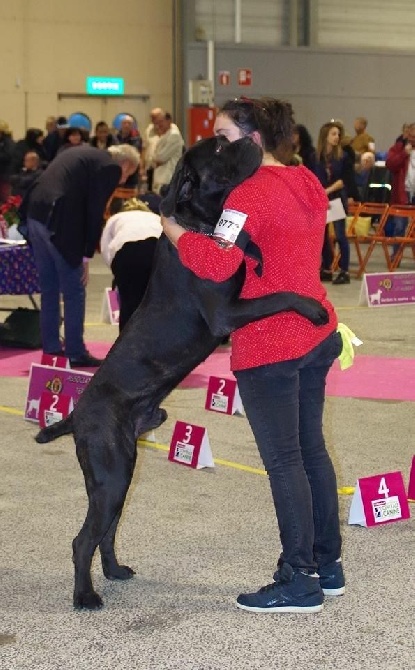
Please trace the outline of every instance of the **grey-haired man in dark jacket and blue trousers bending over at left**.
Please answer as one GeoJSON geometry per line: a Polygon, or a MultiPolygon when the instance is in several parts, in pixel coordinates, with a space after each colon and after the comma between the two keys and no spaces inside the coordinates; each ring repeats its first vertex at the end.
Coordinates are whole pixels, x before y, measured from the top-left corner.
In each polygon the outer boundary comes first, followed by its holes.
{"type": "Polygon", "coordinates": [[[36,180],[21,208],[39,273],[43,351],[62,355],[62,293],[65,355],[73,367],[101,362],[89,354],[83,339],[87,261],[98,246],[108,199],[139,162],[138,151],[129,145],[63,151],[36,180]]]}

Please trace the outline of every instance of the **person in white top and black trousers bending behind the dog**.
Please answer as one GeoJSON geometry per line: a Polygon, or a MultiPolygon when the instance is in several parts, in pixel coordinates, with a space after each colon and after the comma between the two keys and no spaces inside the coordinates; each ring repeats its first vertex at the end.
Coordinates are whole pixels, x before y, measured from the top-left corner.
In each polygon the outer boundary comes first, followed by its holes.
{"type": "Polygon", "coordinates": [[[137,198],[126,200],[105,224],[100,248],[118,290],[120,332],[144,297],[162,231],[160,216],[137,198]]]}

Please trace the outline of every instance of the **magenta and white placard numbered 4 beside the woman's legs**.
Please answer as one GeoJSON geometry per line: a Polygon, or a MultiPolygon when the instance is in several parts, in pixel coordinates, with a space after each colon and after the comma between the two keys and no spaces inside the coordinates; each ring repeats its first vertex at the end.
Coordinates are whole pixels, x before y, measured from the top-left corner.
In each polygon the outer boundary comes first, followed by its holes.
{"type": "Polygon", "coordinates": [[[387,472],[357,480],[349,524],[379,526],[409,519],[409,505],[401,472],[387,472]]]}

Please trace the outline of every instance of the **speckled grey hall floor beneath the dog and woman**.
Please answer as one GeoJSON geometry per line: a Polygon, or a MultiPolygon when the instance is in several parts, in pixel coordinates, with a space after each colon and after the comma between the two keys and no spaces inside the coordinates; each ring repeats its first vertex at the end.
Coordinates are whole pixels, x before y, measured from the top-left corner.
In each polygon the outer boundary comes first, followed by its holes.
{"type": "MultiPolygon", "coordinates": [[[[369,269],[384,270],[380,256],[369,269]]],[[[413,261],[401,269],[414,270],[413,261]]],[[[116,336],[100,323],[109,281],[97,257],[90,341],[116,336]]],[[[358,307],[360,286],[353,279],[328,290],[341,321],[364,341],[361,353],[412,358],[415,307],[358,307]]],[[[18,304],[25,298],[0,297],[0,307],[18,304]]],[[[71,540],[85,515],[84,483],[70,438],[34,442],[37,429],[22,417],[26,389],[25,378],[1,380],[1,670],[415,669],[414,520],[349,526],[350,496],[340,495],[344,597],[327,599],[320,614],[235,607],[240,591],[272,580],[279,540],[247,421],[206,412],[204,390],[172,393],[157,444],[139,448],[117,543],[135,578],[107,582],[95,560],[105,607],[74,611],[71,540]],[[206,426],[214,458],[228,463],[196,471],[168,462],[165,445],[178,419],[206,426]]],[[[325,431],[339,486],[391,470],[407,481],[414,427],[412,402],[329,397],[325,431]]]]}

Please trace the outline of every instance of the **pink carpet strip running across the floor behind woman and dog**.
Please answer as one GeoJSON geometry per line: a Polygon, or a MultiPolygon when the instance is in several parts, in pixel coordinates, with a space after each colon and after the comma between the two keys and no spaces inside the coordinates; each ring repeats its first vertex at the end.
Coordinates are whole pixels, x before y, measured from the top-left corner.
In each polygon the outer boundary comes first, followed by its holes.
{"type": "MultiPolygon", "coordinates": [[[[106,342],[88,343],[89,351],[104,358],[106,342]]],[[[0,377],[27,377],[31,363],[40,363],[40,351],[0,347],[0,377]]],[[[180,388],[207,388],[210,376],[232,377],[229,349],[219,349],[182,382],[180,388]]],[[[330,371],[327,394],[350,398],[415,401],[415,360],[357,354],[354,365],[342,372],[337,363],[330,371]]]]}

